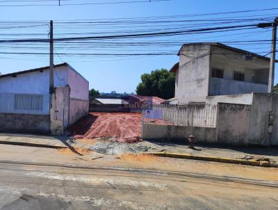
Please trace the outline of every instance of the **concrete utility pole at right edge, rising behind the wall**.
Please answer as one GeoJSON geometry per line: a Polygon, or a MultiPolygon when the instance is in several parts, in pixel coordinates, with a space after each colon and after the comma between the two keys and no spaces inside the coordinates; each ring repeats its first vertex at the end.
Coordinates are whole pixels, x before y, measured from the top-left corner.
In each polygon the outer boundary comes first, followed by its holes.
{"type": "Polygon", "coordinates": [[[268,76],[268,92],[273,92],[274,76],[275,76],[275,52],[276,52],[276,39],[277,39],[277,23],[278,17],[275,18],[272,24],[272,44],[271,44],[271,56],[270,56],[270,70],[268,76]]]}

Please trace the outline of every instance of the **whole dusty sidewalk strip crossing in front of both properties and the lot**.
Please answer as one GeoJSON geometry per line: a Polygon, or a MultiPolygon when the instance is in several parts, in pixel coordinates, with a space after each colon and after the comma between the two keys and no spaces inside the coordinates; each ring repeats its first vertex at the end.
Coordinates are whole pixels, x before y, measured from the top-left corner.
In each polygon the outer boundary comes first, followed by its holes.
{"type": "MultiPolygon", "coordinates": [[[[232,147],[218,145],[196,145],[195,149],[188,148],[186,143],[172,143],[170,141],[140,141],[138,143],[121,143],[115,139],[78,139],[70,140],[69,136],[47,136],[38,134],[0,133],[0,144],[24,145],[47,148],[85,148],[97,154],[121,155],[149,153],[158,156],[172,156],[178,158],[202,161],[219,161],[226,163],[245,164],[253,162],[278,163],[277,147],[232,147]],[[166,153],[166,154],[165,154],[166,153]],[[241,160],[234,161],[232,159],[241,160]]],[[[245,165],[252,165],[245,164],[245,165]]],[[[256,165],[254,163],[253,165],[256,165]]]]}

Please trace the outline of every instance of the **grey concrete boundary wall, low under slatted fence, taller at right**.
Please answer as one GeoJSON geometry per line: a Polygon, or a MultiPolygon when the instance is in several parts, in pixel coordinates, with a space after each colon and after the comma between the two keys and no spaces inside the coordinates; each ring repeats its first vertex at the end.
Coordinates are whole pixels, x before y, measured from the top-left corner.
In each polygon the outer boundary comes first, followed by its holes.
{"type": "Polygon", "coordinates": [[[208,97],[208,102],[218,104],[216,128],[145,123],[142,138],[183,140],[193,134],[200,142],[220,145],[278,145],[278,94],[208,97]],[[272,126],[270,112],[274,115],[272,126]]]}

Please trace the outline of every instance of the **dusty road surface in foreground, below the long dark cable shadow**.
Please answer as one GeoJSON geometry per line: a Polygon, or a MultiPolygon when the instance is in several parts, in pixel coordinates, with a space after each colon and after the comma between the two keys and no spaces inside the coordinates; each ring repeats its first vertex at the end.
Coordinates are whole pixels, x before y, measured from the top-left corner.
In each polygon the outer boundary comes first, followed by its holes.
{"type": "Polygon", "coordinates": [[[0,209],[278,209],[278,184],[127,168],[0,163],[0,209]]]}

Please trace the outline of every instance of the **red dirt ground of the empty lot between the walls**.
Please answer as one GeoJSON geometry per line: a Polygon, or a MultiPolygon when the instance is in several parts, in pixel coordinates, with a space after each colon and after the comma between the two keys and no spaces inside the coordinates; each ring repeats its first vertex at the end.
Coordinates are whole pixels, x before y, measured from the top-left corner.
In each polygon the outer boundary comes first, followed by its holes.
{"type": "Polygon", "coordinates": [[[140,113],[89,113],[69,130],[74,138],[116,138],[135,143],[140,140],[141,120],[140,113]]]}

